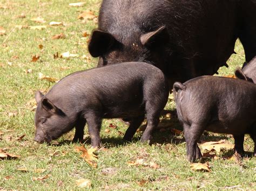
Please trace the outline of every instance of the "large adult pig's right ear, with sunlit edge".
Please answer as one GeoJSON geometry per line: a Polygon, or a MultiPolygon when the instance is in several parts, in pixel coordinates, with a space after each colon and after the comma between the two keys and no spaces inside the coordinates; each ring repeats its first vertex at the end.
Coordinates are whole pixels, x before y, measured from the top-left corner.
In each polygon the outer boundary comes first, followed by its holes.
{"type": "Polygon", "coordinates": [[[169,34],[165,26],[161,26],[158,30],[142,34],[140,37],[142,45],[146,47],[157,47],[160,44],[169,41],[169,34]]]}

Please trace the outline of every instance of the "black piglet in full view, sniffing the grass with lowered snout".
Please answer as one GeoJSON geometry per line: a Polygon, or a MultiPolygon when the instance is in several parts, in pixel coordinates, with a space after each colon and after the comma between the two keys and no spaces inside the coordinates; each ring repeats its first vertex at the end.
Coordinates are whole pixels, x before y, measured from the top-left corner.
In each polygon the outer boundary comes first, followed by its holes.
{"type": "Polygon", "coordinates": [[[46,95],[37,91],[35,140],[50,142],[75,126],[73,141],[77,142],[83,140],[87,123],[91,145],[99,146],[102,118],[123,117],[131,119],[124,135],[125,140],[131,140],[146,114],[147,127],[140,139],[146,142],[158,125],[168,95],[163,72],[147,63],[121,63],[73,73],[46,95]]]}

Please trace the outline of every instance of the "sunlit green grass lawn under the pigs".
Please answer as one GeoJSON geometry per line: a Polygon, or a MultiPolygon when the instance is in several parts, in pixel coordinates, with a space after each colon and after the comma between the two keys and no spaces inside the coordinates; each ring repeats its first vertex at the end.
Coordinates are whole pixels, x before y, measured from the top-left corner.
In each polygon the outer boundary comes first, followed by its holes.
{"type": "MultiPolygon", "coordinates": [[[[181,129],[174,115],[175,105],[170,101],[166,110],[172,111],[171,118],[162,116],[164,122],[170,124],[164,132],[155,131],[153,144],[138,142],[142,132],[136,133],[132,143],[123,143],[120,132],[127,126],[119,119],[104,120],[102,125],[102,142],[107,150],[98,151],[98,167],[92,168],[75,151],[72,144],[74,132],[70,132],[51,145],[33,142],[35,128],[33,117],[35,111],[34,95],[36,90],[48,91],[53,83],[41,80],[38,73],[61,79],[77,70],[96,66],[97,59],[90,57],[87,51],[84,31],[90,33],[97,27],[95,20],[79,20],[79,13],[92,10],[96,15],[99,0],[88,0],[80,8],[71,8],[72,1],[28,1],[2,0],[0,2],[0,26],[6,34],[0,36],[0,148],[6,152],[21,155],[16,160],[0,161],[0,189],[78,189],[76,180],[90,179],[93,189],[254,189],[256,186],[255,158],[244,158],[240,163],[226,160],[223,156],[231,156],[233,151],[218,154],[219,159],[205,158],[212,172],[195,172],[185,157],[183,135],[173,135],[172,128],[181,129]],[[3,9],[6,6],[8,9],[3,9]],[[1,8],[2,7],[2,8],[1,8]],[[25,18],[17,18],[24,13],[25,18]],[[46,23],[35,23],[30,19],[41,16],[46,23]],[[63,22],[64,26],[50,26],[51,21],[63,22]],[[47,25],[45,30],[19,30],[16,25],[47,25]],[[53,40],[52,36],[63,32],[65,39],[53,40]],[[39,49],[38,45],[43,45],[39,49]],[[53,54],[78,54],[77,58],[54,59],[53,54]],[[31,62],[32,56],[40,56],[37,62],[31,62]],[[86,55],[87,59],[81,58],[86,55]],[[31,73],[26,73],[32,69],[31,73]],[[118,126],[109,128],[110,123],[118,126]],[[109,133],[104,130],[110,129],[109,133]],[[22,140],[17,138],[25,135],[22,140]],[[53,154],[55,153],[55,154],[53,154]],[[143,158],[145,162],[155,162],[160,166],[153,169],[145,166],[129,166],[127,161],[143,158]],[[19,168],[28,169],[28,172],[19,168]],[[45,169],[43,173],[33,171],[45,169]],[[33,177],[49,178],[36,181],[33,177]],[[146,180],[144,185],[138,183],[146,180]]],[[[219,69],[219,75],[231,75],[235,67],[244,62],[244,51],[237,41],[235,51],[228,64],[229,68],[219,69]]],[[[85,146],[90,147],[88,132],[85,133],[85,146]]],[[[253,142],[246,137],[245,150],[253,151],[253,142]]],[[[210,133],[203,135],[202,140],[227,139],[233,143],[229,135],[210,133]]]]}

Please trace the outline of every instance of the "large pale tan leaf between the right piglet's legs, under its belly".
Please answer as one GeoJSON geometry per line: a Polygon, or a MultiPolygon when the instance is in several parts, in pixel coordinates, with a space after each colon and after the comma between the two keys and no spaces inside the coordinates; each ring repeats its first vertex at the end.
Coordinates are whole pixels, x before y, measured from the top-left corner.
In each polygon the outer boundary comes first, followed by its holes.
{"type": "Polygon", "coordinates": [[[219,142],[206,142],[200,145],[203,150],[220,152],[223,149],[233,149],[234,145],[230,143],[225,143],[225,140],[220,140],[219,142]]]}

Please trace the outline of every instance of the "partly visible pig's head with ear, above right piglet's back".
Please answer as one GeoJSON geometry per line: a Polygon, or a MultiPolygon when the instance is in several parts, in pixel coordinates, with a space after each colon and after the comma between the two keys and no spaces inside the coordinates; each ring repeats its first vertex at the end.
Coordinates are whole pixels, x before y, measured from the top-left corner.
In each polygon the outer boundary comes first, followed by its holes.
{"type": "Polygon", "coordinates": [[[249,62],[245,62],[242,69],[235,70],[235,76],[241,80],[251,81],[256,83],[256,56],[249,62]]]}

